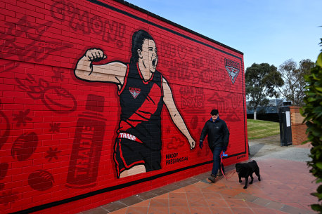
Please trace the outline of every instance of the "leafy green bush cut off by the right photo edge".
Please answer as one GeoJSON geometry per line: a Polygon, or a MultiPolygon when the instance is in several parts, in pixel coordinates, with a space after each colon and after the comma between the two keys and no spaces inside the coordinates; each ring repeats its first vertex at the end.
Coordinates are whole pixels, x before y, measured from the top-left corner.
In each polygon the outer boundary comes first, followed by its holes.
{"type": "MultiPolygon", "coordinates": [[[[322,46],[322,39],[320,45],[322,46]]],[[[307,142],[311,142],[311,161],[307,161],[310,166],[310,173],[316,177],[316,183],[320,183],[316,192],[312,195],[318,198],[318,203],[312,204],[311,208],[322,213],[322,50],[318,55],[316,66],[311,69],[311,74],[304,76],[307,81],[305,105],[301,114],[307,124],[307,142]]]]}

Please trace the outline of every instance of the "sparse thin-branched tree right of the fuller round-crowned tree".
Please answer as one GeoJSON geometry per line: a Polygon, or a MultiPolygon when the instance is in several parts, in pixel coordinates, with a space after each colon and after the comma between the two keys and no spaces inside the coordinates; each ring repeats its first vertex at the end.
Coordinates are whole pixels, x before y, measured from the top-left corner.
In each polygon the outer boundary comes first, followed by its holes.
{"type": "Polygon", "coordinates": [[[278,91],[284,98],[292,102],[292,105],[302,106],[305,96],[306,82],[304,75],[310,74],[310,69],[314,67],[314,62],[311,60],[301,60],[300,66],[294,60],[286,60],[280,65],[278,72],[284,81],[284,86],[278,87],[278,91]]]}

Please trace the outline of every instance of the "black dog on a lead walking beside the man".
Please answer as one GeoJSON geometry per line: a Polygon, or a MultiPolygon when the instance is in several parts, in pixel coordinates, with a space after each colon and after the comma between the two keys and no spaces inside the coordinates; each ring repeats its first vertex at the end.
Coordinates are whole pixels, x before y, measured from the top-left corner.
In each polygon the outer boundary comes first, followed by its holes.
{"type": "Polygon", "coordinates": [[[247,189],[248,176],[252,179],[250,185],[254,178],[252,178],[252,173],[255,173],[258,177],[258,180],[261,181],[261,175],[259,175],[259,167],[256,161],[251,161],[248,163],[236,163],[236,172],[238,173],[239,182],[241,183],[241,178],[245,178],[244,189],[247,189]]]}

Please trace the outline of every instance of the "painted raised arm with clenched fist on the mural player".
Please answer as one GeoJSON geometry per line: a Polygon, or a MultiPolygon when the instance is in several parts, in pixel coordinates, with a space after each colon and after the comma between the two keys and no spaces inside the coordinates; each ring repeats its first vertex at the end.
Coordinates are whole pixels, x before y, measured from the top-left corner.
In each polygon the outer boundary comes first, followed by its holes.
{"type": "Polygon", "coordinates": [[[121,88],[127,65],[122,62],[109,62],[104,65],[93,65],[92,62],[104,60],[106,55],[101,49],[88,49],[77,62],[75,76],[85,81],[103,81],[116,83],[121,88]]]}

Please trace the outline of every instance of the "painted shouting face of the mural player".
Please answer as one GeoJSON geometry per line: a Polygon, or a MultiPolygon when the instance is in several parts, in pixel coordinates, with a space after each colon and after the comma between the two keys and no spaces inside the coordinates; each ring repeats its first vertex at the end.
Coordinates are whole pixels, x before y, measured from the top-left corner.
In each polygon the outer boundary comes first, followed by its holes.
{"type": "Polygon", "coordinates": [[[152,39],[145,39],[142,44],[142,50],[138,50],[144,67],[154,73],[157,67],[157,47],[152,39]]]}

